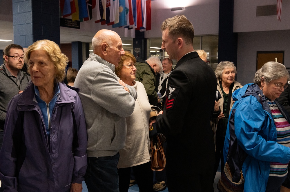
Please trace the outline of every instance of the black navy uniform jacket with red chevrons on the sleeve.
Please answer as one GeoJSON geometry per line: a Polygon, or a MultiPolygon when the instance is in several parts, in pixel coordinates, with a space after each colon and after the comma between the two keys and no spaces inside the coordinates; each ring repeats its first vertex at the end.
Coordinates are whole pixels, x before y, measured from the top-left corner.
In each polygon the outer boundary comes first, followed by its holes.
{"type": "Polygon", "coordinates": [[[167,139],[166,167],[176,167],[186,175],[214,164],[210,119],[216,87],[213,69],[197,52],[177,62],[169,76],[163,115],[156,120],[157,132],[167,139]]]}

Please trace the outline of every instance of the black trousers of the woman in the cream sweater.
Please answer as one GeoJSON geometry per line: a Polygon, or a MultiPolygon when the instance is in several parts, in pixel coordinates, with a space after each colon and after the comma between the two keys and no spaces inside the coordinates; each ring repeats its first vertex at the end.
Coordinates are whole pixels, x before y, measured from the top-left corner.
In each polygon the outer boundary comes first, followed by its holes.
{"type": "Polygon", "coordinates": [[[133,169],[140,192],[153,192],[153,171],[151,162],[118,169],[119,191],[128,192],[130,184],[131,168],[133,169]]]}

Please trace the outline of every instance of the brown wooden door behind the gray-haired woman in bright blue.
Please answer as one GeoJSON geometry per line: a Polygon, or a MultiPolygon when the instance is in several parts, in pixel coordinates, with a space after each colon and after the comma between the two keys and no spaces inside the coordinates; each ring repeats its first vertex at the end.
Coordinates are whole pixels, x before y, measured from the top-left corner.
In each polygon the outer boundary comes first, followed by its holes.
{"type": "Polygon", "coordinates": [[[257,51],[256,70],[259,70],[268,61],[284,64],[284,51],[257,51]]]}

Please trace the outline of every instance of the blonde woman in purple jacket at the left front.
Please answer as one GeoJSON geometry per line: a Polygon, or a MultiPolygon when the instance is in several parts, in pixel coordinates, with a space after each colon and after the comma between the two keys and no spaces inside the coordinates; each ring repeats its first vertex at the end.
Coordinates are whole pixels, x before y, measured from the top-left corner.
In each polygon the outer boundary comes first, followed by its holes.
{"type": "Polygon", "coordinates": [[[82,190],[86,124],[77,92],[62,82],[67,62],[50,40],[39,40],[25,52],[31,81],[8,105],[0,152],[1,189],[82,190]]]}

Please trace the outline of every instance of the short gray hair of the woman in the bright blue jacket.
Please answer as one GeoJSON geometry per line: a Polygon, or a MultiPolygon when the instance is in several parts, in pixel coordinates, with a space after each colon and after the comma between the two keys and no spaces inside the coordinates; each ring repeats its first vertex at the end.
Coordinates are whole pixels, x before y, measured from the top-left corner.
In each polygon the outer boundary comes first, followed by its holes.
{"type": "Polygon", "coordinates": [[[253,80],[254,83],[261,85],[262,80],[268,84],[270,81],[280,79],[282,77],[287,77],[289,80],[289,72],[287,71],[286,67],[281,63],[269,61],[255,73],[253,80]]]}

